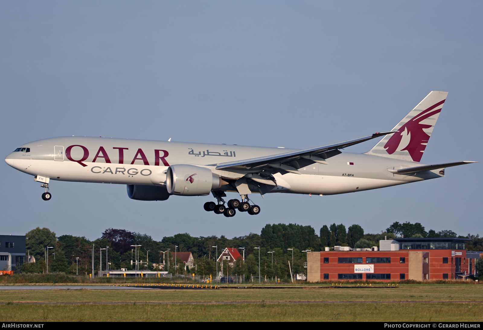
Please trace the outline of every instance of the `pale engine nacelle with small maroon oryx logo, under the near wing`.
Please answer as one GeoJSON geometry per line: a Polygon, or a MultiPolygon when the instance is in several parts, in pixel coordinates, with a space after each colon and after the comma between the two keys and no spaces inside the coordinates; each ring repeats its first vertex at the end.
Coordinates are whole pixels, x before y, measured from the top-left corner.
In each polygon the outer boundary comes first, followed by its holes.
{"type": "Polygon", "coordinates": [[[166,172],[166,188],[170,195],[206,196],[224,183],[210,169],[196,165],[171,165],[166,172]]]}

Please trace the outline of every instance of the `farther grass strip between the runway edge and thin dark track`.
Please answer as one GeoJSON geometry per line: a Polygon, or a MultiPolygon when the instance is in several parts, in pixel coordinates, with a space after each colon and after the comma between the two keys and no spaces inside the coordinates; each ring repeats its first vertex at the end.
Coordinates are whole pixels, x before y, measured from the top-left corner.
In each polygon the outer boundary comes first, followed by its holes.
{"type": "Polygon", "coordinates": [[[0,290],[7,302],[481,301],[483,286],[408,285],[348,289],[0,290]]]}

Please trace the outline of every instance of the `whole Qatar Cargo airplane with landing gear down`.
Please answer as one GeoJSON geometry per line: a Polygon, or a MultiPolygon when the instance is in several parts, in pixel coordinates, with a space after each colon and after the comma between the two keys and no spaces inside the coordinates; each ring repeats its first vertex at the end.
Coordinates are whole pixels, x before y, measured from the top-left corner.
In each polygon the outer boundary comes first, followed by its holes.
{"type": "Polygon", "coordinates": [[[474,163],[419,163],[447,94],[430,92],[390,132],[310,149],[69,136],[22,145],[5,161],[43,183],[44,200],[52,197],[50,180],[110,183],[127,185],[137,200],[212,193],[217,202],[205,203],[206,211],[255,215],[252,193],[344,194],[439,178],[447,167],[474,163]],[[381,136],[364,154],[339,150],[381,136]],[[226,192],[241,200],[226,203],[226,192]]]}

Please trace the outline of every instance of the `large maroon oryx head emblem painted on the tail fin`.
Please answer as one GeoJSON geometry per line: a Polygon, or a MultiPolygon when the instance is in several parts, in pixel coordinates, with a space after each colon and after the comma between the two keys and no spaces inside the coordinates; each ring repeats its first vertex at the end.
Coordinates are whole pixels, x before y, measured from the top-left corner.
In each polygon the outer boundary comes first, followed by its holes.
{"type": "Polygon", "coordinates": [[[445,100],[438,102],[437,104],[428,107],[419,115],[408,120],[404,125],[399,128],[398,133],[393,134],[384,145],[389,155],[392,155],[395,151],[406,150],[411,156],[413,161],[419,162],[423,157],[423,152],[426,149],[426,144],[429,140],[429,135],[423,129],[428,129],[432,125],[421,124],[421,121],[436,115],[441,112],[441,108],[431,111],[434,108],[442,105],[445,100]],[[404,142],[402,141],[404,139],[404,142]],[[407,145],[406,145],[407,143],[407,145]],[[399,149],[399,148],[402,149],[399,149]]]}

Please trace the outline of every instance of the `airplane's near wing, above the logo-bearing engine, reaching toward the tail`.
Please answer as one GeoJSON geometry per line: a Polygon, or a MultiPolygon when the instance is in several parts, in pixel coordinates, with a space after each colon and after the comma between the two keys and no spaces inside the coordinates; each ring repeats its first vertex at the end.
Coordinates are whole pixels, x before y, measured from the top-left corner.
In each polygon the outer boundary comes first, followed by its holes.
{"type": "Polygon", "coordinates": [[[243,159],[241,161],[232,161],[227,163],[219,163],[216,164],[216,169],[261,171],[266,167],[270,167],[271,169],[275,169],[278,171],[283,170],[286,172],[301,174],[300,172],[298,172],[297,169],[306,166],[301,165],[303,163],[312,164],[316,162],[321,164],[328,164],[326,159],[340,154],[341,151],[339,151],[339,149],[343,149],[351,145],[356,145],[392,133],[395,132],[374,133],[372,135],[336,143],[334,145],[323,145],[315,148],[290,151],[271,156],[243,159]]]}

